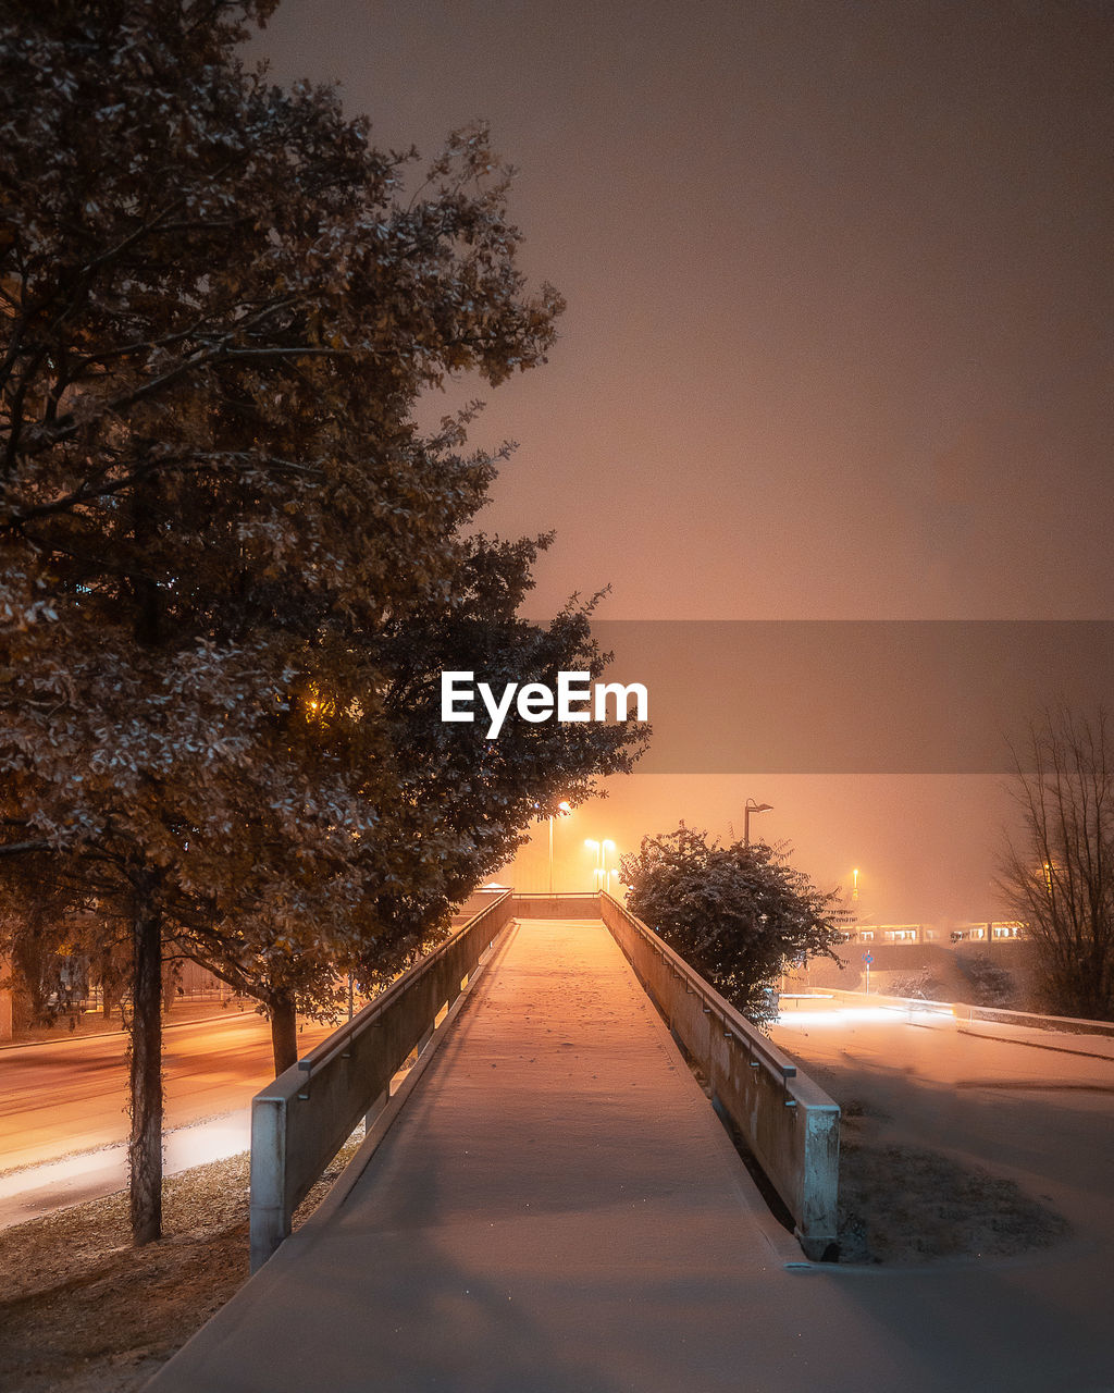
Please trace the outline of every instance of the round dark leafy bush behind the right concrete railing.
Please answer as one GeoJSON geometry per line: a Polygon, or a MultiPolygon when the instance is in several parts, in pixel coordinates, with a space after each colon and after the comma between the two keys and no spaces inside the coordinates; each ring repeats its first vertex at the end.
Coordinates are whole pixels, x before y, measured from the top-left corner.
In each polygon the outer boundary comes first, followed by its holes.
{"type": "Polygon", "coordinates": [[[777,1018],[773,988],[790,963],[837,960],[840,892],[817,890],[766,843],[720,846],[682,822],[643,837],[620,875],[631,912],[758,1025],[777,1018]]]}

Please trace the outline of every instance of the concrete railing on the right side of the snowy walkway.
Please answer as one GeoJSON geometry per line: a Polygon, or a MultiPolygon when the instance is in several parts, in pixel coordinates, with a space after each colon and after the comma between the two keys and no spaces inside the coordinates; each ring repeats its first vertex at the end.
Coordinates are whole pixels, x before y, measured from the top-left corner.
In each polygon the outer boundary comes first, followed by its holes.
{"type": "Polygon", "coordinates": [[[602,894],[600,912],[785,1202],[805,1255],[834,1258],[838,1105],[618,900],[602,894]]]}

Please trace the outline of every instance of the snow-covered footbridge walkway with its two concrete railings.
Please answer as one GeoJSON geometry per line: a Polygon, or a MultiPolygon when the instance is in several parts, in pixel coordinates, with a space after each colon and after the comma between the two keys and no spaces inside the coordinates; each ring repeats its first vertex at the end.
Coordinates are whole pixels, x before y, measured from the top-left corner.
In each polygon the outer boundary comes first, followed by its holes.
{"type": "Polygon", "coordinates": [[[734,1389],[801,1353],[794,1269],[836,1238],[838,1109],[607,896],[493,897],[258,1095],[252,1145],[258,1270],[153,1389],[734,1389]]]}

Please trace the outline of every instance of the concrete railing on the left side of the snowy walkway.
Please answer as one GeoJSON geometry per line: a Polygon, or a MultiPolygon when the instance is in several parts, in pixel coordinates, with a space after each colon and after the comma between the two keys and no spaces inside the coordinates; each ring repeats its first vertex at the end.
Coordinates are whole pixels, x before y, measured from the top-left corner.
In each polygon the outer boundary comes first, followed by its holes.
{"type": "Polygon", "coordinates": [[[288,1237],[294,1211],[351,1135],[375,1114],[405,1060],[460,996],[512,914],[510,892],[369,1002],[252,1099],[252,1272],[288,1237]]]}

